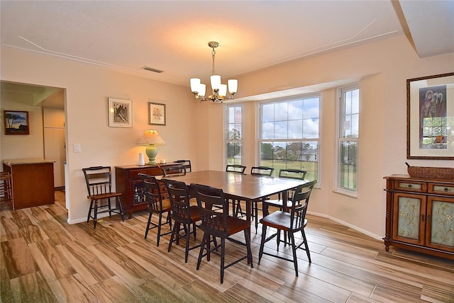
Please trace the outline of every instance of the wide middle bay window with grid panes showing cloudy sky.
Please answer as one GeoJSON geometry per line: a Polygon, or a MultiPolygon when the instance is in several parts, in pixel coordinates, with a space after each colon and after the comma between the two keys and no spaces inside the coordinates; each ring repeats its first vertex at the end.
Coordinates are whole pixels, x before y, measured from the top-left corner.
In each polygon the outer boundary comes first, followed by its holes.
{"type": "Polygon", "coordinates": [[[260,103],[260,165],[297,168],[306,179],[319,176],[320,96],[260,103]]]}

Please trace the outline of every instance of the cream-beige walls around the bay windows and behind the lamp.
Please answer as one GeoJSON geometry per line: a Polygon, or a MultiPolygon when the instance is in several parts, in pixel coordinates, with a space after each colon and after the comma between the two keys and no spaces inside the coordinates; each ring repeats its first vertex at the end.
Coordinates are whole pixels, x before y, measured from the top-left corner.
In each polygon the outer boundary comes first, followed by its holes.
{"type": "MultiPolygon", "coordinates": [[[[148,98],[167,105],[167,126],[154,127],[166,142],[159,148],[158,160],[192,159],[194,170],[225,168],[223,106],[194,101],[189,85],[162,84],[9,47],[2,47],[1,63],[3,80],[67,88],[69,222],[81,222],[87,216],[82,167],[138,161],[143,147],[136,146],[135,142],[148,128],[148,98]],[[132,129],[108,127],[109,96],[133,100],[132,129]],[[72,152],[74,143],[81,144],[82,153],[72,152]]],[[[419,59],[406,38],[393,38],[238,76],[238,98],[360,78],[358,198],[333,193],[336,89],[326,89],[322,92],[321,108],[321,188],[314,191],[309,212],[331,217],[380,238],[384,236],[385,217],[382,178],[392,173],[406,173],[406,79],[453,70],[454,54],[419,59]]],[[[257,159],[256,108],[255,102],[245,105],[244,157],[248,167],[256,164],[257,159]]],[[[413,160],[409,163],[453,167],[453,161],[413,160]]]]}

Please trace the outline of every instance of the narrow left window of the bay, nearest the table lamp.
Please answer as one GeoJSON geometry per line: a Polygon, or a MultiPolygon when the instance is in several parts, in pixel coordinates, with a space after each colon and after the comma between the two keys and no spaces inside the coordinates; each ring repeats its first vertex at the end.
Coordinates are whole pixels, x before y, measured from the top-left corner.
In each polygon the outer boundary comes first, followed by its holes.
{"type": "Polygon", "coordinates": [[[227,164],[243,164],[243,105],[227,105],[227,164]]]}

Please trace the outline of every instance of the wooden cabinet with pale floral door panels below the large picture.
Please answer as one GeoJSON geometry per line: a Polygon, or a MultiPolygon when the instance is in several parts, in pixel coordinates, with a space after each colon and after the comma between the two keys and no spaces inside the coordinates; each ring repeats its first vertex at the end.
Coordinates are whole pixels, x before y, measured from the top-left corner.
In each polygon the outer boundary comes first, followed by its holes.
{"type": "Polygon", "coordinates": [[[386,251],[394,246],[454,260],[454,180],[384,178],[386,251]]]}

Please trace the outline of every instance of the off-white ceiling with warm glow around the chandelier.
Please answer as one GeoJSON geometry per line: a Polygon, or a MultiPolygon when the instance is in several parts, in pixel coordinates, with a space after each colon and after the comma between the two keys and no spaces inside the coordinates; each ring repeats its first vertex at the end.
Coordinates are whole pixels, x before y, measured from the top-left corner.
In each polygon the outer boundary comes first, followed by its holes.
{"type": "Polygon", "coordinates": [[[223,82],[398,35],[419,57],[454,52],[454,1],[2,0],[0,10],[3,46],[188,89],[191,77],[209,79],[212,40],[223,82]]]}

